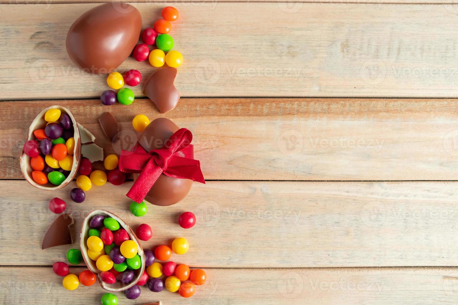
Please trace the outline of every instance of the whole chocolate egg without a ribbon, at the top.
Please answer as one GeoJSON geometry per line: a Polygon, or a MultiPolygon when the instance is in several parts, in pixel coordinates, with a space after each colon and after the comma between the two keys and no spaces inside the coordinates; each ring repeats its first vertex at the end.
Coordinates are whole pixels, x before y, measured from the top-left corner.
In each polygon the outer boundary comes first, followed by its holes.
{"type": "Polygon", "coordinates": [[[82,14],[67,33],[70,59],[90,74],[107,74],[131,54],[142,30],[142,16],[132,5],[105,3],[82,14]]]}

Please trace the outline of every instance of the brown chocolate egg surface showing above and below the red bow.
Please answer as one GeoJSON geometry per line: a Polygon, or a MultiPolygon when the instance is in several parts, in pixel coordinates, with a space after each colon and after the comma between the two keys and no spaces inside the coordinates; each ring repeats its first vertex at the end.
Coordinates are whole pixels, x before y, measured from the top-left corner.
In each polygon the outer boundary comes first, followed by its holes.
{"type": "MultiPolygon", "coordinates": [[[[167,140],[180,129],[167,118],[157,118],[149,123],[140,135],[138,143],[146,150],[160,149],[167,140]]],[[[134,180],[138,177],[134,174],[134,180]]],[[[191,190],[192,180],[172,178],[162,174],[153,184],[145,197],[145,201],[159,206],[167,206],[180,202],[191,190]]]]}

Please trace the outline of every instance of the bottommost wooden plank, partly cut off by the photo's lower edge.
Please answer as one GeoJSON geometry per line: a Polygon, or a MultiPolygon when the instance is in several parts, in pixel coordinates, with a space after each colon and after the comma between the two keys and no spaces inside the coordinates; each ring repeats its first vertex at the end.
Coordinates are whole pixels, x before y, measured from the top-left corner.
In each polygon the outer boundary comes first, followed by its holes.
{"type": "MultiPolygon", "coordinates": [[[[79,274],[84,268],[71,267],[79,274]]],[[[456,304],[457,268],[205,269],[208,280],[186,304],[456,304]]],[[[99,304],[105,291],[94,284],[67,291],[50,267],[1,267],[2,304],[99,304]]],[[[121,304],[161,300],[175,293],[142,287],[136,300],[116,293],[121,304]]]]}

